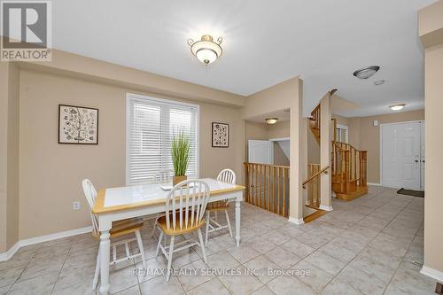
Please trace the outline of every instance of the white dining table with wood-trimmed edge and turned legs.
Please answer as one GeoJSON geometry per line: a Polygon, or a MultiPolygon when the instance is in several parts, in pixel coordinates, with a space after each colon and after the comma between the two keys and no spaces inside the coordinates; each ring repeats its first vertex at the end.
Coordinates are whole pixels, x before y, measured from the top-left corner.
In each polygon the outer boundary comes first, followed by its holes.
{"type": "MultiPolygon", "coordinates": [[[[212,178],[202,181],[209,185],[211,191],[209,202],[231,199],[235,202],[236,210],[236,242],[240,245],[240,210],[243,201],[244,186],[219,182],[212,178]]],[[[101,189],[97,193],[92,213],[97,215],[100,231],[100,293],[108,294],[109,263],[110,263],[110,233],[113,221],[133,217],[141,217],[154,213],[165,212],[165,201],[169,190],[164,190],[159,184],[142,184],[117,188],[101,189]]]]}

